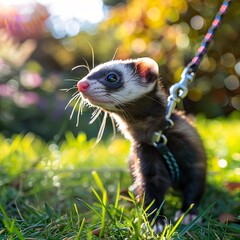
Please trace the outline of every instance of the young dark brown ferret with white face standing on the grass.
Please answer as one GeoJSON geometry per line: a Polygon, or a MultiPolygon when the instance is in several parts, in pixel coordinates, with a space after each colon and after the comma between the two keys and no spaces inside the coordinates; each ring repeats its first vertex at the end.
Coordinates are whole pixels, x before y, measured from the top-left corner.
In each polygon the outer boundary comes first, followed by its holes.
{"type": "Polygon", "coordinates": [[[145,207],[150,206],[149,222],[155,219],[153,229],[157,233],[166,225],[163,209],[157,210],[167,190],[173,187],[182,192],[182,207],[175,220],[194,204],[182,222],[188,224],[197,217],[206,180],[205,150],[190,120],[175,110],[171,116],[174,126],[165,128],[168,96],[162,85],[158,64],[147,57],[100,64],[77,83],[83,100],[113,117],[130,140],[132,189],[138,201],[144,199],[145,207]],[[177,182],[172,180],[163,154],[152,144],[153,134],[161,130],[179,168],[177,182]]]}

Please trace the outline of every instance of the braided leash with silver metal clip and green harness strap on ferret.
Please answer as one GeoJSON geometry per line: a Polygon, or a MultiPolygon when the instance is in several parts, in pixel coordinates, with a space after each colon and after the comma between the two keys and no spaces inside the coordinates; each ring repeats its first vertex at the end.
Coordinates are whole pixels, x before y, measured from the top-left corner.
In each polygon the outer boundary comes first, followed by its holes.
{"type": "Polygon", "coordinates": [[[178,83],[175,83],[170,88],[170,95],[168,97],[168,105],[167,105],[167,112],[166,112],[166,124],[164,129],[160,131],[156,131],[152,135],[152,141],[151,145],[153,145],[162,155],[163,159],[165,160],[168,169],[170,171],[170,175],[173,182],[178,182],[180,177],[180,171],[178,163],[174,157],[174,155],[171,153],[170,149],[167,146],[167,137],[163,134],[164,131],[167,129],[170,129],[174,126],[174,122],[171,120],[171,115],[174,112],[177,103],[179,103],[183,98],[187,96],[188,93],[188,83],[192,82],[196,71],[198,69],[198,66],[204,56],[204,54],[207,51],[207,48],[210,44],[210,42],[213,39],[213,35],[217,28],[219,27],[222,17],[226,14],[227,9],[230,5],[230,3],[233,0],[225,0],[218,13],[215,16],[215,19],[212,22],[211,27],[208,29],[207,34],[205,35],[201,46],[199,47],[197,53],[192,58],[191,62],[184,68],[182,74],[181,74],[181,80],[178,83]]]}

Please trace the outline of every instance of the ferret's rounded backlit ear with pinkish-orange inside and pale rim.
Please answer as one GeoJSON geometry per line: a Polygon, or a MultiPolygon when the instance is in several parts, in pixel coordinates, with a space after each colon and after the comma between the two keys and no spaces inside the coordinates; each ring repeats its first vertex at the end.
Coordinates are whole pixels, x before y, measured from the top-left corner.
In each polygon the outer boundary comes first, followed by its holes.
{"type": "Polygon", "coordinates": [[[140,77],[146,82],[153,82],[158,78],[158,64],[153,59],[138,58],[135,64],[140,77]]]}

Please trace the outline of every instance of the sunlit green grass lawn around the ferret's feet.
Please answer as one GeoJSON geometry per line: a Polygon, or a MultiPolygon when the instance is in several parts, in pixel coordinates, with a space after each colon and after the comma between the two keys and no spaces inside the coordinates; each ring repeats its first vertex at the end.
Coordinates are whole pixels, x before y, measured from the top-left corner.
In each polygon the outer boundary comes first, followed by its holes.
{"type": "MultiPolygon", "coordinates": [[[[238,223],[219,222],[224,212],[240,217],[240,191],[226,188],[240,182],[239,118],[198,117],[209,156],[204,222],[172,223],[159,236],[141,204],[125,194],[131,184],[126,140],[93,147],[84,134],[67,133],[58,144],[31,133],[0,135],[0,239],[239,239],[238,223]]],[[[164,202],[169,220],[179,207],[170,191],[164,202]]]]}

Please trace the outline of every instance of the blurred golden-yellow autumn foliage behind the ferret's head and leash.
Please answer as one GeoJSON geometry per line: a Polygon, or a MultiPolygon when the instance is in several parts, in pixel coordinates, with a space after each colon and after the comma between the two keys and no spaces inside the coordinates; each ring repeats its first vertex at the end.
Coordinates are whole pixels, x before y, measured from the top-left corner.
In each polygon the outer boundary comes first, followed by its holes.
{"type": "MultiPolygon", "coordinates": [[[[149,56],[160,65],[165,86],[180,80],[184,66],[200,47],[222,0],[131,0],[116,6],[100,25],[118,42],[117,58],[149,56]]],[[[240,106],[239,59],[236,49],[240,2],[233,1],[199,66],[185,108],[209,117],[240,106]]]]}

